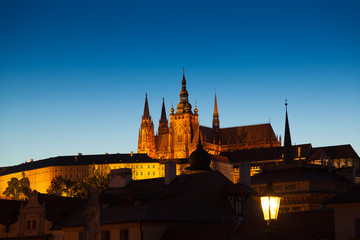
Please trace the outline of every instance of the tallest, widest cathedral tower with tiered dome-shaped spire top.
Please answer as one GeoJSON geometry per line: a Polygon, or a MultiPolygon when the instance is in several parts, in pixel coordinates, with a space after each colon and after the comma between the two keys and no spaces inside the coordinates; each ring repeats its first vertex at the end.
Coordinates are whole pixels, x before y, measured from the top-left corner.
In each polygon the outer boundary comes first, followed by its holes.
{"type": "Polygon", "coordinates": [[[199,121],[197,108],[194,109],[195,113],[191,110],[184,71],[179,96],[180,101],[176,107],[176,113],[173,107],[170,110],[169,152],[171,158],[188,158],[196,149],[194,135],[199,130],[199,121]]]}

